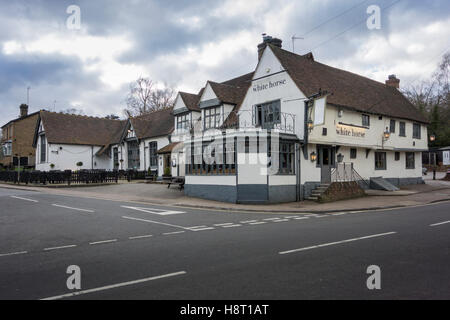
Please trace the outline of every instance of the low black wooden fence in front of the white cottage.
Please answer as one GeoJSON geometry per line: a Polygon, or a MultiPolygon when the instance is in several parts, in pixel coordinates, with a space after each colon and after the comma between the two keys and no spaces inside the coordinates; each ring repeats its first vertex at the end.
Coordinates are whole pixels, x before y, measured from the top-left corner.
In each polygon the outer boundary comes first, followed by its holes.
{"type": "Polygon", "coordinates": [[[65,170],[65,171],[0,171],[0,181],[25,184],[89,184],[117,183],[119,180],[145,179],[145,171],[133,170],[65,170]]]}

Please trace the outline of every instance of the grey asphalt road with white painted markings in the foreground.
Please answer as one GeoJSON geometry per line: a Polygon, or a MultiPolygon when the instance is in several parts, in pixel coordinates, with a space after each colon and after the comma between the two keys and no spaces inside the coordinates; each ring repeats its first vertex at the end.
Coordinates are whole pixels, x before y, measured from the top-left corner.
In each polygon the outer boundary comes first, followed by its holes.
{"type": "Polygon", "coordinates": [[[0,299],[43,298],[449,299],[450,202],[291,215],[0,188],[0,299]]]}

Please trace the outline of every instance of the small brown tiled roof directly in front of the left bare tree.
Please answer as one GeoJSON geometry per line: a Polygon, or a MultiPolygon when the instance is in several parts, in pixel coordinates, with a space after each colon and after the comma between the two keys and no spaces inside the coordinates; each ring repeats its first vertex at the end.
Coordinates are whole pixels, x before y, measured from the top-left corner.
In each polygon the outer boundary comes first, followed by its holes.
{"type": "Polygon", "coordinates": [[[131,124],[138,139],[152,138],[168,135],[173,131],[173,109],[153,111],[148,114],[131,117],[131,124]]]}

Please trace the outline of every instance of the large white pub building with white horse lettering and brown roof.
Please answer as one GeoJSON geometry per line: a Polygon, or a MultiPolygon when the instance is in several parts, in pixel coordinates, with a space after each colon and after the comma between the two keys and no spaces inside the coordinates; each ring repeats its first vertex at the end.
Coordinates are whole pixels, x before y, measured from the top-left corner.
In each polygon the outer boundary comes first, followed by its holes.
{"type": "Polygon", "coordinates": [[[399,82],[322,64],[264,36],[254,72],[178,94],[172,158],[184,167],[185,194],[263,204],[315,199],[319,186],[339,181],[423,183],[428,122],[399,82]]]}

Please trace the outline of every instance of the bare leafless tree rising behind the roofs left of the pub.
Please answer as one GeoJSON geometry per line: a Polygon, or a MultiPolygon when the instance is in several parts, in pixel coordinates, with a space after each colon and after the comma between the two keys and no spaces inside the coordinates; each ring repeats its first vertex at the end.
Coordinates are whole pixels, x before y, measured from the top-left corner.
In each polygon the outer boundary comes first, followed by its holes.
{"type": "Polygon", "coordinates": [[[127,116],[139,116],[156,110],[173,107],[175,91],[165,86],[157,88],[149,78],[140,77],[130,84],[130,92],[127,95],[127,108],[124,110],[127,116]]]}

